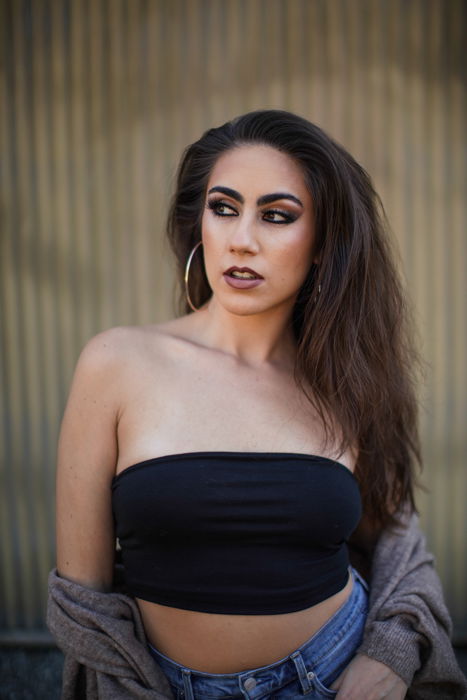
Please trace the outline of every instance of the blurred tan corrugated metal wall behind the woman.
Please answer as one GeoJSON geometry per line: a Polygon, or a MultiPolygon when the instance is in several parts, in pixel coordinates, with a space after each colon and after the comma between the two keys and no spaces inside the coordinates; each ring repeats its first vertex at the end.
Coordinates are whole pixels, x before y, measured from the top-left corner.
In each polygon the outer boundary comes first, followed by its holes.
{"type": "MultiPolygon", "coordinates": [[[[425,357],[424,522],[467,635],[462,0],[1,0],[0,628],[43,625],[55,444],[83,343],[172,312],[182,148],[296,111],[372,173],[425,357]]],[[[464,43],[463,43],[464,40],[464,43]]]]}

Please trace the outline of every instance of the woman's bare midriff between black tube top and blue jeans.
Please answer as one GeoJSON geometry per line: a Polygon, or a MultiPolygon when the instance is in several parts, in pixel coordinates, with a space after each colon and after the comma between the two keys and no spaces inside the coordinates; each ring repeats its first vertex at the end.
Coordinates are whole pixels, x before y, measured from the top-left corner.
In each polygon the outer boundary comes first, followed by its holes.
{"type": "Polygon", "coordinates": [[[236,673],[284,658],[345,603],[352,577],[335,595],[305,610],[279,615],[219,615],[138,599],[146,635],[156,649],[188,668],[236,673]]]}

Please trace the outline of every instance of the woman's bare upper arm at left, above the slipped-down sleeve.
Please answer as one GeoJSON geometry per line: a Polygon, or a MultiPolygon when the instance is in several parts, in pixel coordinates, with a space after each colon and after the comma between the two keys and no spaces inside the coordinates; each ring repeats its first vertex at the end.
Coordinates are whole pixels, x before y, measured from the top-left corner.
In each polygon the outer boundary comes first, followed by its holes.
{"type": "Polygon", "coordinates": [[[118,456],[118,334],[93,338],[79,358],[60,431],[57,569],[85,586],[112,582],[111,483],[118,456]]]}

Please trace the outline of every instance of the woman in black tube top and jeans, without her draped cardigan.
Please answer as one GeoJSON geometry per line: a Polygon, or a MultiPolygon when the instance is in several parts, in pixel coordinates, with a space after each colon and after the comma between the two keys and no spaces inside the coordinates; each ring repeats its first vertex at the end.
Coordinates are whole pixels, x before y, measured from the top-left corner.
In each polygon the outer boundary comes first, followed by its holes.
{"type": "Polygon", "coordinates": [[[371,542],[413,511],[419,457],[377,204],[304,119],[211,129],[183,157],[169,216],[191,313],[82,353],[59,444],[58,573],[110,591],[118,536],[174,697],[405,696],[384,659],[355,656],[368,592],[346,547],[359,521],[371,542]]]}

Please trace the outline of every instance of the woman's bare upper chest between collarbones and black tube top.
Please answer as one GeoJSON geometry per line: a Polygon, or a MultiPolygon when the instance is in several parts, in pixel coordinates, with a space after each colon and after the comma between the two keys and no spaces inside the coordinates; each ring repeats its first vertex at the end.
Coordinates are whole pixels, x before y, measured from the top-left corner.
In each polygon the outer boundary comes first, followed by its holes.
{"type": "Polygon", "coordinates": [[[128,386],[120,468],[200,450],[320,453],[323,433],[293,376],[203,356],[150,365],[128,386]]]}

